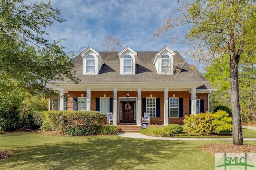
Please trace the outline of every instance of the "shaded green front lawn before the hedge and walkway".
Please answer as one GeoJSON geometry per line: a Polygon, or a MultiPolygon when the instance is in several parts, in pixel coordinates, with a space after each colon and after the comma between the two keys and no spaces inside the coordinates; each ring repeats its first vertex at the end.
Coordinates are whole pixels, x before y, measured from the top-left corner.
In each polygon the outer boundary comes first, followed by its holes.
{"type": "MultiPolygon", "coordinates": [[[[229,141],[230,142],[230,141],[229,141]]],[[[0,134],[0,150],[14,150],[1,169],[214,169],[203,144],[228,141],[171,141],[109,136],[51,136],[32,132],[0,134]]],[[[254,144],[255,141],[244,141],[254,144]]]]}

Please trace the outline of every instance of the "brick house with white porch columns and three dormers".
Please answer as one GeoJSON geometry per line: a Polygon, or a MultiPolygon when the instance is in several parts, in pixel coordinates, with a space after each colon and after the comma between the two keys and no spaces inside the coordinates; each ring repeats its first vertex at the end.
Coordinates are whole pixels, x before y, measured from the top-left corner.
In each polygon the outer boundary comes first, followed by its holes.
{"type": "Polygon", "coordinates": [[[183,124],[185,115],[208,111],[209,94],[215,91],[168,47],[150,52],[88,47],[74,62],[80,83],[54,82],[60,101],[49,101],[49,110],[113,112],[114,125],[140,125],[144,112],[150,112],[151,124],[183,124]]]}

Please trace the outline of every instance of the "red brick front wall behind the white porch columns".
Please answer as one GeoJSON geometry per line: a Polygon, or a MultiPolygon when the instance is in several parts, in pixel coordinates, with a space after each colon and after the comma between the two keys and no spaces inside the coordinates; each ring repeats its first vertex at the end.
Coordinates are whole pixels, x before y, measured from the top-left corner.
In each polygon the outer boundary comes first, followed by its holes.
{"type": "MultiPolygon", "coordinates": [[[[119,97],[126,97],[126,94],[129,93],[129,97],[137,97],[137,91],[118,91],[117,93],[117,123],[119,120],[119,97]]],[[[73,98],[74,97],[86,97],[86,91],[68,91],[68,93],[65,93],[65,98],[68,99],[68,108],[67,110],[73,110],[73,98]]],[[[183,117],[179,118],[168,118],[168,123],[177,123],[182,125],[185,115],[189,115],[189,100],[191,99],[191,94],[188,91],[180,92],[180,91],[172,91],[168,93],[168,97],[173,97],[175,94],[175,97],[177,98],[183,98],[183,117]]],[[[106,97],[113,98],[114,93],[112,91],[91,91],[91,110],[96,110],[96,98],[100,97],[106,97]]],[[[150,124],[156,124],[156,125],[164,125],[164,92],[163,91],[142,91],[141,92],[141,98],[147,98],[150,97],[160,98],[160,117],[153,117],[150,118],[150,124]]],[[[196,94],[197,99],[204,99],[204,111],[208,111],[208,94],[204,93],[197,93],[196,94]]],[[[51,102],[51,107],[53,110],[53,102],[51,102]]],[[[141,115],[142,115],[142,102],[141,102],[141,115]]]]}

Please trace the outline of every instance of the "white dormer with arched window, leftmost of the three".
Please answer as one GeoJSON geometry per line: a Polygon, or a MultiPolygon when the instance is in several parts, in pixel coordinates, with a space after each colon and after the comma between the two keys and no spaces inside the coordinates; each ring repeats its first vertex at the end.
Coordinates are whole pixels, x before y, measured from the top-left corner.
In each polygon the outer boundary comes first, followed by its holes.
{"type": "Polygon", "coordinates": [[[100,54],[92,47],[88,47],[81,53],[83,58],[83,75],[96,75],[104,64],[100,54]]]}

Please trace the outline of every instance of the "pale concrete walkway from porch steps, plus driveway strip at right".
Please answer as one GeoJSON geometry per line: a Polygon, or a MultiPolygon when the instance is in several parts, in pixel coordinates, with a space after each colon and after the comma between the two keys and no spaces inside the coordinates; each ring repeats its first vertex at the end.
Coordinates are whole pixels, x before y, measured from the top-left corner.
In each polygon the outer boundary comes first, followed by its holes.
{"type": "MultiPolygon", "coordinates": [[[[256,127],[242,126],[242,128],[248,128],[256,130],[256,127]]],[[[127,138],[140,138],[140,139],[160,139],[160,140],[232,140],[232,138],[175,138],[175,137],[154,137],[146,136],[140,133],[117,133],[118,136],[127,138]]],[[[255,136],[256,137],[256,136],[255,136]]],[[[243,140],[256,140],[256,138],[243,138],[243,140]]]]}

